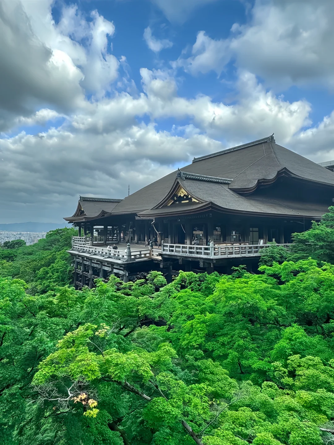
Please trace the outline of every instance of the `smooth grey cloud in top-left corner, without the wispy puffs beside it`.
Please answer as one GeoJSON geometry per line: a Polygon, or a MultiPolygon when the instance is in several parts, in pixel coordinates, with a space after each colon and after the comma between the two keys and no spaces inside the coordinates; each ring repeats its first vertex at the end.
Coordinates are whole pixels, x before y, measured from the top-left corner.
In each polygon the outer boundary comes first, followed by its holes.
{"type": "Polygon", "coordinates": [[[81,71],[66,53],[37,38],[16,0],[0,3],[0,42],[0,130],[41,103],[66,111],[80,105],[81,71]]]}

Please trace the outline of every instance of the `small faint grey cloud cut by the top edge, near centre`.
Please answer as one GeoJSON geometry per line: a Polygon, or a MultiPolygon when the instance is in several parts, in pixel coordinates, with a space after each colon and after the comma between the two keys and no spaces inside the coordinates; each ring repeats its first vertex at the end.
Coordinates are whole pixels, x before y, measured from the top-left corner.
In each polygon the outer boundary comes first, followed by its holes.
{"type": "Polygon", "coordinates": [[[151,0],[170,22],[182,24],[192,11],[217,0],[151,0]]]}

